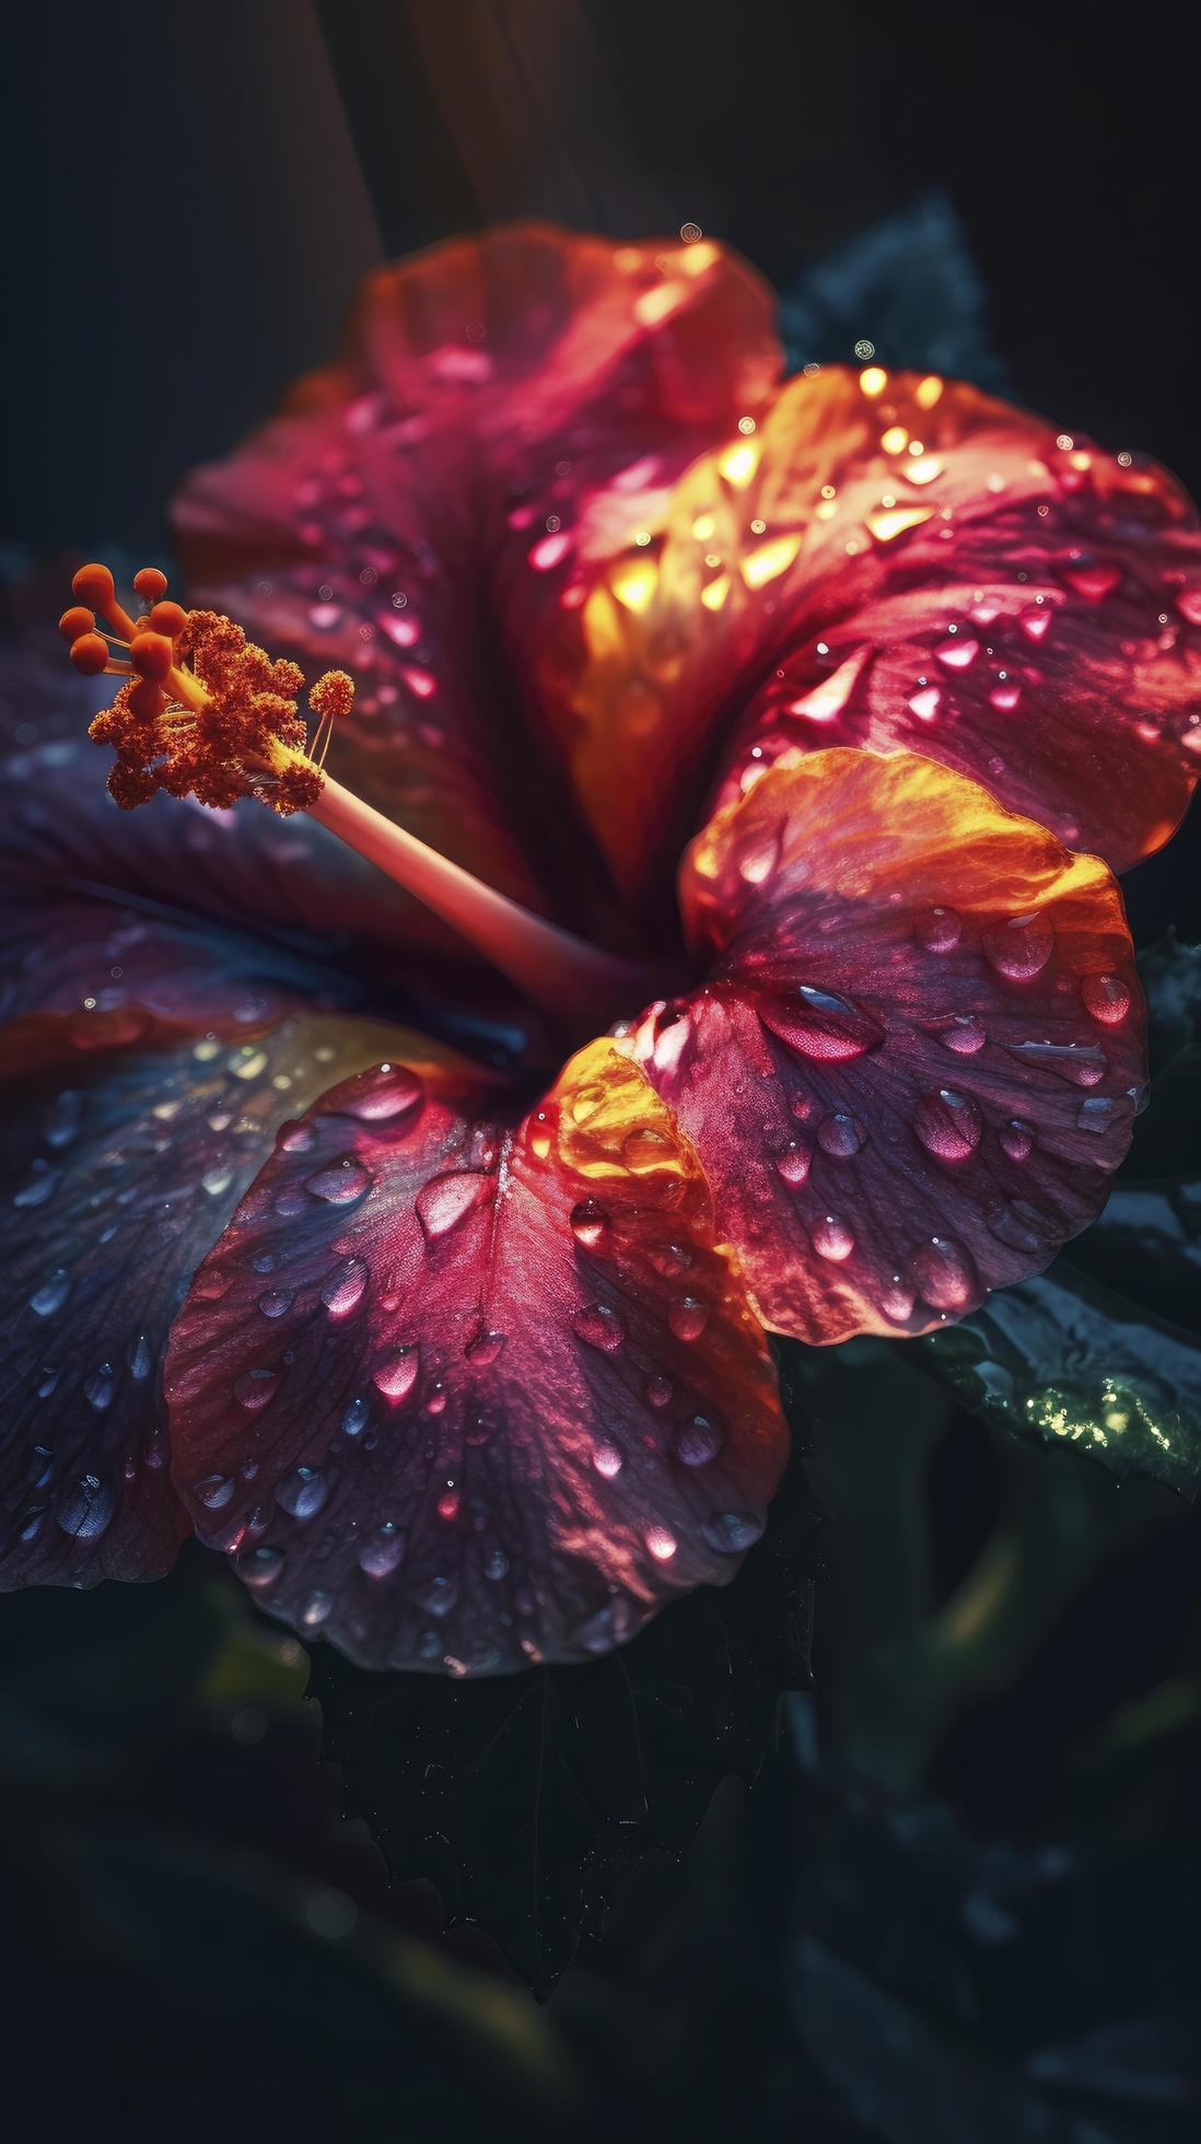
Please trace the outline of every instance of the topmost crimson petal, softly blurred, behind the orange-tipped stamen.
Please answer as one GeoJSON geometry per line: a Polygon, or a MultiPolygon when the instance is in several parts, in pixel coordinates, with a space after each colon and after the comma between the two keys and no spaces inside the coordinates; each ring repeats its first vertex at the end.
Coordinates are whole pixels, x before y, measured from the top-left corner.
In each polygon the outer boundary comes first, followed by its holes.
{"type": "Polygon", "coordinates": [[[568,757],[579,810],[609,802],[562,693],[581,562],[656,527],[776,371],[766,285],[708,242],[521,225],[440,247],[373,277],[345,360],[191,478],[184,564],[272,652],[356,673],[341,780],[532,898],[536,851],[510,828],[538,806],[547,866],[581,881],[585,862],[570,825],[555,845],[570,815],[547,810],[545,755],[515,750],[525,716],[568,757]]]}

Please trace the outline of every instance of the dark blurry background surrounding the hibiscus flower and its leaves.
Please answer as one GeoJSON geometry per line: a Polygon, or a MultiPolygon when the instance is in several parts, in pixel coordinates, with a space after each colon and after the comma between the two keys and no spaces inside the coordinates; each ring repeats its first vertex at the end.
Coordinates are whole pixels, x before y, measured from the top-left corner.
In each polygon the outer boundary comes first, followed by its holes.
{"type": "MultiPolygon", "coordinates": [[[[697,221],[787,287],[931,182],[1014,392],[1201,489],[1184,9],[60,0],[4,75],[15,568],[159,547],[384,251],[697,221]]],[[[1197,847],[1195,817],[1135,877],[1143,937],[1197,928],[1197,847]]],[[[300,1649],[206,1559],[6,1604],[0,2088],[39,2131],[1195,2133],[1195,1529],[841,1353],[809,1396],[817,1696],[547,2007],[429,1885],[386,1891],[300,1649]],[[950,1644],[1010,1550],[993,1640],[950,1644]]]]}

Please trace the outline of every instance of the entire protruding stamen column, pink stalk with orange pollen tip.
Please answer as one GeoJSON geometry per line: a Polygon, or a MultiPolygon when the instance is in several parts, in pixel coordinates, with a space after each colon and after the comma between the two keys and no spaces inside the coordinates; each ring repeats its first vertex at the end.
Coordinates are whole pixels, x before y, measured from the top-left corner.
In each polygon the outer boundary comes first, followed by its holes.
{"type": "Polygon", "coordinates": [[[656,978],[635,961],[498,894],[324,772],[335,725],[354,703],[345,671],[326,671],[309,688],[309,738],[296,710],[305,686],[296,662],[272,660],[219,611],[167,602],[167,579],[154,566],[133,577],[148,605],[139,617],[118,602],[107,566],[81,566],[71,585],[79,600],[58,624],[75,669],[122,680],[88,731],[116,750],[107,787],[122,810],[148,804],[159,789],[212,808],[251,795],[283,817],[307,810],[560,1023],[583,1021],[596,1031],[656,995],[656,978]]]}

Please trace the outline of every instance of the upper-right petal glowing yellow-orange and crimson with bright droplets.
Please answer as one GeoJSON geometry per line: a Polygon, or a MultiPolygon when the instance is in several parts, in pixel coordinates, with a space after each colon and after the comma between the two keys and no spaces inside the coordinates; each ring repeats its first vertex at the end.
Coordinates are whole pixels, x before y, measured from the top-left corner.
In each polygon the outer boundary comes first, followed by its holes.
{"type": "Polygon", "coordinates": [[[740,708],[723,800],[785,750],[909,746],[1115,868],[1167,840],[1201,772],[1184,493],[933,377],[789,382],[688,470],[663,540],[605,566],[583,622],[579,770],[624,768],[607,845],[628,881],[654,862],[667,770],[703,778],[740,708]]]}

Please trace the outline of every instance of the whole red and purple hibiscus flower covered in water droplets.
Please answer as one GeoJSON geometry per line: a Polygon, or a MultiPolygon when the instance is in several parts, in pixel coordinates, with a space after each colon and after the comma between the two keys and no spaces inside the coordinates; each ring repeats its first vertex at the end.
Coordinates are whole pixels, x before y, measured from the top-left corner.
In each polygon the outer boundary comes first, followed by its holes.
{"type": "Polygon", "coordinates": [[[523,227],[377,274],[176,527],[195,609],[64,617],[146,808],[9,778],[4,1580],[193,1527],[367,1666],[600,1653],[761,1533],[766,1327],[929,1331],[1104,1203],[1197,519],[781,386],[706,240],[523,227]]]}

